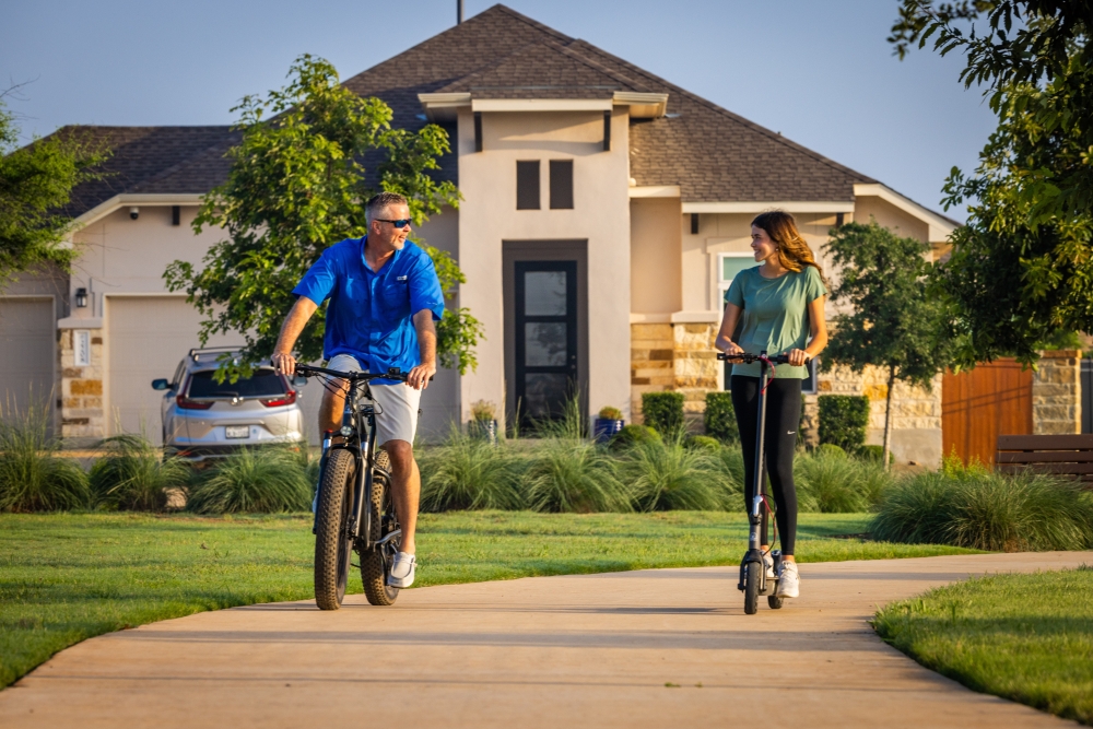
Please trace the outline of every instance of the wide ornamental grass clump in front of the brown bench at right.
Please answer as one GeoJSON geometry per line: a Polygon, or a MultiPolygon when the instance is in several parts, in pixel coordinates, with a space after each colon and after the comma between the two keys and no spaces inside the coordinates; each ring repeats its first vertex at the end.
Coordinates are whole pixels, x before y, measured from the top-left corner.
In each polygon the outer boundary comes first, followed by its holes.
{"type": "Polygon", "coordinates": [[[1093,546],[1093,497],[1069,480],[950,463],[889,489],[871,532],[885,541],[990,551],[1086,549],[1093,546]]]}

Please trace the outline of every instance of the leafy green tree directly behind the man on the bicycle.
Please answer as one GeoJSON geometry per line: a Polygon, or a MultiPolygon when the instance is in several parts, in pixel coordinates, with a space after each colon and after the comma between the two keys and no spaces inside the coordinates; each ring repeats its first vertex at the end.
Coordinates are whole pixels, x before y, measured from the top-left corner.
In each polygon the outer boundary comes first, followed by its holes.
{"type": "MultiPolygon", "coordinates": [[[[430,175],[449,152],[448,136],[427,125],[420,131],[391,129],[392,113],[378,98],[362,98],[338,82],[327,61],[302,56],[290,83],[266,98],[246,96],[236,129],[242,138],[227,156],[223,185],[205,196],[195,232],[222,227],[227,239],[213,245],[198,271],[172,263],[164,278],[172,291],[185,290],[204,317],[201,342],[214,333],[236,332],[245,342],[240,364],[223,362],[232,379],[269,356],[281,324],[294,303],[292,290],[328,246],[363,236],[365,202],[377,190],[366,185],[365,155],[379,153],[379,187],[409,200],[414,225],[459,203],[449,181],[430,175]]],[[[433,258],[448,302],[465,281],[446,252],[421,243],[433,258]]],[[[325,314],[326,305],[321,313],[325,314]]],[[[296,342],[304,362],[322,354],[324,317],[313,317],[296,342]]],[[[466,308],[447,307],[437,325],[440,363],[477,365],[474,346],[482,328],[466,308]]]]}

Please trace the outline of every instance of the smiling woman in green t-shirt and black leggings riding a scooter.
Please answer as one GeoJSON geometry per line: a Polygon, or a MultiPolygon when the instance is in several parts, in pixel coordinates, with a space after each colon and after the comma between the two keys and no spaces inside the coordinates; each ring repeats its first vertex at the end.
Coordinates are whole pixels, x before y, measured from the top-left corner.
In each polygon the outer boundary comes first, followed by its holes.
{"type": "MultiPolygon", "coordinates": [[[[765,452],[777,507],[775,520],[781,537],[783,560],[776,596],[796,598],[800,595],[800,574],[794,558],[797,538],[794,454],[801,419],[801,380],[808,377],[808,361],[827,345],[824,302],[828,291],[823,271],[789,213],[775,210],[757,215],[752,221],[751,247],[760,266],[738,273],[725,293],[725,318],[715,345],[730,357],[762,352],[789,356],[789,364],[777,365],[767,385],[765,452]]],[[[744,456],[745,507],[750,507],[754,497],[761,366],[757,362],[734,364],[729,384],[744,456]]],[[[763,544],[762,549],[767,578],[774,578],[769,544],[763,544]]]]}

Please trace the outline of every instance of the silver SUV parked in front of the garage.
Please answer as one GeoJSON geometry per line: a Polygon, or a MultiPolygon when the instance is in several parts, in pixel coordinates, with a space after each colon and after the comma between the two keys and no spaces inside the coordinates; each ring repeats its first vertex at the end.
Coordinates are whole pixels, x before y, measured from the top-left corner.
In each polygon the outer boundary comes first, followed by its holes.
{"type": "Polygon", "coordinates": [[[201,461],[240,446],[304,440],[298,385],[269,365],[236,383],[216,381],[218,358],[236,352],[238,348],[190,350],[172,380],[152,380],[153,389],[166,390],[163,446],[175,456],[201,461]]]}

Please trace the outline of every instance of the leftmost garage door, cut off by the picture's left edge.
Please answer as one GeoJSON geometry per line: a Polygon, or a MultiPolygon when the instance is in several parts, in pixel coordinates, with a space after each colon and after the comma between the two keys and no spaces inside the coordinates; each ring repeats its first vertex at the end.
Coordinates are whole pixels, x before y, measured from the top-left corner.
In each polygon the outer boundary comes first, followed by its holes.
{"type": "Polygon", "coordinates": [[[57,321],[51,298],[0,297],[0,408],[25,410],[32,401],[54,412],[54,344],[57,321]]]}

